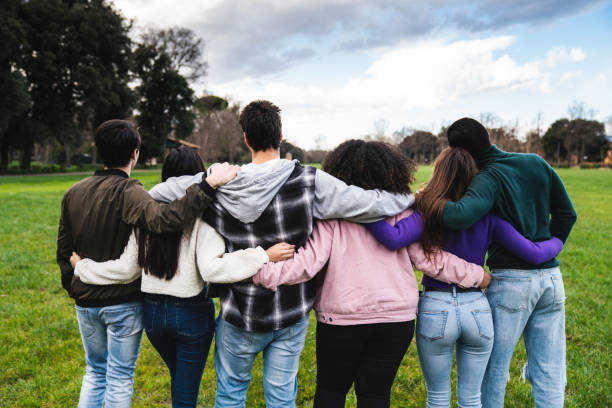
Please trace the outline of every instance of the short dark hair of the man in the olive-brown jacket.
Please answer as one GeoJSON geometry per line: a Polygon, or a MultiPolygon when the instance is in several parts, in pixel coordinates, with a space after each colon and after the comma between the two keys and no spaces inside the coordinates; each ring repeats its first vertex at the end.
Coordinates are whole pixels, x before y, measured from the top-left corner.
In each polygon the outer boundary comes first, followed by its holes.
{"type": "Polygon", "coordinates": [[[107,167],[122,167],[130,162],[135,149],[140,149],[140,135],[129,120],[112,119],[94,132],[96,148],[107,167]]]}

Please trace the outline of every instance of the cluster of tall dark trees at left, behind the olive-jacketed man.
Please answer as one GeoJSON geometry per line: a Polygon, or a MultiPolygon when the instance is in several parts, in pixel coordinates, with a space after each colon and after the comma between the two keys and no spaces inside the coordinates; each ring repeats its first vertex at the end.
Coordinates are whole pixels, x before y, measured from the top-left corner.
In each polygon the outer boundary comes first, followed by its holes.
{"type": "Polygon", "coordinates": [[[105,0],[3,1],[0,171],[15,156],[28,170],[35,148],[49,161],[85,150],[95,162],[92,130],[112,118],[138,122],[144,160],[163,154],[168,135],[192,133],[203,40],[181,27],[130,34],[105,0]]]}

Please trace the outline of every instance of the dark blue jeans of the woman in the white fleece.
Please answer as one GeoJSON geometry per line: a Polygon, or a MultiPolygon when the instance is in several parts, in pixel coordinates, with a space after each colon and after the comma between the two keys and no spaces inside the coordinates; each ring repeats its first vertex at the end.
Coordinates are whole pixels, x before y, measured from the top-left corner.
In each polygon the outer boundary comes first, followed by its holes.
{"type": "Polygon", "coordinates": [[[215,306],[206,290],[192,298],[145,294],[144,326],[170,370],[172,406],[195,407],[215,332],[215,306]]]}

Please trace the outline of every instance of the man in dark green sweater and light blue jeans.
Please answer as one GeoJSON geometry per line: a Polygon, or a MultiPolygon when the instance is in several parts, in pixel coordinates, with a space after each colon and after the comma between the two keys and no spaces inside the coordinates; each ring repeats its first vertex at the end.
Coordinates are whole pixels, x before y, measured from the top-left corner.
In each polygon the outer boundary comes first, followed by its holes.
{"type": "MultiPolygon", "coordinates": [[[[555,171],[535,154],[508,153],[491,146],[486,129],[463,118],[447,130],[451,147],[468,150],[479,173],[458,202],[444,207],[445,227],[464,230],[490,211],[507,219],[525,237],[565,242],[576,212],[555,171]]],[[[487,289],[495,340],[482,384],[485,408],[502,408],[512,354],[524,337],[536,407],[563,407],[565,390],[565,292],[559,261],[530,265],[493,242],[487,289]]]]}

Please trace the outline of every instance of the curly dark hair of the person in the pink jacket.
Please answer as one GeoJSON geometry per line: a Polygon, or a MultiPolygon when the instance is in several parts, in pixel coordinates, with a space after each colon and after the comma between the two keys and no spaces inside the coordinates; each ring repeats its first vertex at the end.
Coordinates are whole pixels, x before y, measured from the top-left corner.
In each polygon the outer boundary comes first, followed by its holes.
{"type": "Polygon", "coordinates": [[[353,139],[327,155],[323,170],[366,190],[410,193],[416,166],[397,147],[353,139]]]}

